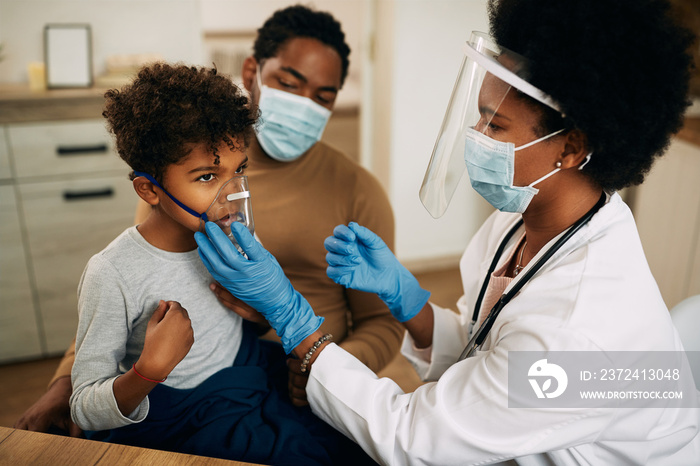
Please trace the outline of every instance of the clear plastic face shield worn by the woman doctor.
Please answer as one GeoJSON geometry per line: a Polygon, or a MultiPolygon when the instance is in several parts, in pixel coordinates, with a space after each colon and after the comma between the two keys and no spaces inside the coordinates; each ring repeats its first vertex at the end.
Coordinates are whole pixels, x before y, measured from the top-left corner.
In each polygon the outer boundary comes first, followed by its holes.
{"type": "Polygon", "coordinates": [[[473,32],[464,52],[420,188],[421,202],[434,218],[445,213],[464,173],[468,133],[476,131],[498,139],[491,134],[492,120],[509,93],[519,91],[559,111],[551,98],[525,80],[526,59],[499,47],[487,34],[473,32]]]}

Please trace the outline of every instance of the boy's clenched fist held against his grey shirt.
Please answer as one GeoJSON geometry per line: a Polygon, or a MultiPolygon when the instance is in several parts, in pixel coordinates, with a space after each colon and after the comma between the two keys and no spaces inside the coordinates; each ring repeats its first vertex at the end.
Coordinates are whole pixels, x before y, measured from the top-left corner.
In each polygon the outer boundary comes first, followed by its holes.
{"type": "Polygon", "coordinates": [[[187,310],[176,301],[161,301],[146,328],[140,374],[161,380],[182,361],[194,343],[194,331],[187,310]]]}

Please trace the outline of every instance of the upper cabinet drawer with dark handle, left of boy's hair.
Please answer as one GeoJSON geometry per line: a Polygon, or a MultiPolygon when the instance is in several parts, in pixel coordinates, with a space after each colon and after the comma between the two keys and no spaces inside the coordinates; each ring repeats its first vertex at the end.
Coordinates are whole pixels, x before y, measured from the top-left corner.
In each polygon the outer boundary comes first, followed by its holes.
{"type": "Polygon", "coordinates": [[[8,125],[18,178],[125,170],[103,120],[8,125]]]}

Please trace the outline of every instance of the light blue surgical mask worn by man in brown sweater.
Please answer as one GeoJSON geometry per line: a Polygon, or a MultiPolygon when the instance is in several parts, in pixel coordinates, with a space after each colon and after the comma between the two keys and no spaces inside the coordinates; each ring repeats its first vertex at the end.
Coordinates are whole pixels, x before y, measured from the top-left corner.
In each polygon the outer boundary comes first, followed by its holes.
{"type": "Polygon", "coordinates": [[[306,97],[263,86],[259,68],[257,79],[258,142],[267,155],[279,162],[296,160],[321,139],[331,111],[306,97]]]}

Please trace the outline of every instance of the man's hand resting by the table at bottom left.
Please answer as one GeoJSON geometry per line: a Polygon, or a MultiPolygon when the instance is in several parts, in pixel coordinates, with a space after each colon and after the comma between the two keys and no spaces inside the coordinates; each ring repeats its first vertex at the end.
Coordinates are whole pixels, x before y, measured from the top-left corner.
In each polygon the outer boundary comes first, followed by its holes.
{"type": "Polygon", "coordinates": [[[70,417],[70,395],[73,392],[70,377],[61,377],[27,409],[15,425],[15,429],[46,432],[51,426],[65,430],[71,437],[82,437],[80,430],[70,417]]]}

